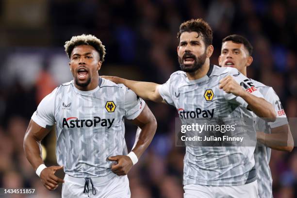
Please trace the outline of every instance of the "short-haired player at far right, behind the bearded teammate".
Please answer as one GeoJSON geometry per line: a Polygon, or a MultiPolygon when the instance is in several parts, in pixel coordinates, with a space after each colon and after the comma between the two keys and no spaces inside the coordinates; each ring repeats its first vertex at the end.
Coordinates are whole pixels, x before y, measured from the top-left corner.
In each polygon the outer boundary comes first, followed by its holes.
{"type": "MultiPolygon", "coordinates": [[[[219,65],[234,67],[247,76],[247,66],[253,62],[252,50],[252,45],[245,37],[237,34],[229,35],[222,40],[219,65]]],[[[272,198],[272,177],[269,168],[271,148],[291,152],[294,148],[294,140],[281,101],[273,88],[253,79],[250,81],[277,112],[275,122],[267,122],[260,117],[255,120],[257,140],[262,143],[254,151],[259,196],[272,198]]]]}

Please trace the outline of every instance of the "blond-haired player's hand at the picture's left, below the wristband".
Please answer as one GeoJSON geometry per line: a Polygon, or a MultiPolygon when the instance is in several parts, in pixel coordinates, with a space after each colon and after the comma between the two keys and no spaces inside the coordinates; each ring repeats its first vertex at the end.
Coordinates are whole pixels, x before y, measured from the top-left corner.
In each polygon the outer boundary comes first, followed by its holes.
{"type": "Polygon", "coordinates": [[[63,165],[49,166],[41,171],[40,179],[48,190],[54,190],[58,187],[59,183],[64,183],[64,180],[55,176],[55,172],[60,169],[63,169],[63,165]]]}

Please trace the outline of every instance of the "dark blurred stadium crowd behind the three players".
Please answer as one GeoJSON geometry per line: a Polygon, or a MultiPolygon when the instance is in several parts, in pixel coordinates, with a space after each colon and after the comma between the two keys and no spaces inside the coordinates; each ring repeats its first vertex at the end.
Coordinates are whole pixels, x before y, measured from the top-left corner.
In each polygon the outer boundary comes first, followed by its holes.
{"type": "MultiPolygon", "coordinates": [[[[296,0],[1,0],[0,187],[34,187],[40,198],[61,196],[61,187],[43,187],[25,158],[23,137],[40,100],[72,78],[66,40],[82,33],[101,39],[107,55],[100,75],[164,83],[179,69],[179,25],[198,17],[214,31],[211,63],[218,62],[222,38],[246,36],[254,47],[248,76],[272,86],[287,116],[297,117],[296,0]]],[[[158,129],[129,173],[132,198],[181,198],[184,148],[175,146],[176,110],[148,105],[158,129]]],[[[126,126],[131,148],[136,129],[126,126]]],[[[46,165],[56,165],[54,132],[43,145],[46,165]]],[[[270,168],[274,197],[297,197],[296,149],[273,151],[270,168]]]]}

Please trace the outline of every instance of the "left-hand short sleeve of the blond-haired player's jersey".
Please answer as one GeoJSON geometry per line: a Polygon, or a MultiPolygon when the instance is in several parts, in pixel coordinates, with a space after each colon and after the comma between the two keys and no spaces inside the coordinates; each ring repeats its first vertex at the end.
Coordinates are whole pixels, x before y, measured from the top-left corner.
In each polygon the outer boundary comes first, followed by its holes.
{"type": "Polygon", "coordinates": [[[32,115],[32,120],[39,126],[47,128],[55,124],[54,119],[54,104],[57,88],[39,103],[37,110],[32,115]]]}

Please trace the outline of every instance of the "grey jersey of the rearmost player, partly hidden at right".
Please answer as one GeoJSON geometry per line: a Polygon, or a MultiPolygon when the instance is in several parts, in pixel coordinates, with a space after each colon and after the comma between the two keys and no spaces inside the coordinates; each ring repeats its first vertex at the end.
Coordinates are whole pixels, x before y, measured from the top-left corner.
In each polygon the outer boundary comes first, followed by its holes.
{"type": "MultiPolygon", "coordinates": [[[[272,128],[288,124],[281,101],[273,88],[266,86],[261,82],[252,79],[250,80],[261,92],[264,98],[274,106],[277,113],[277,119],[275,122],[266,122],[260,117],[257,117],[257,115],[254,115],[256,117],[255,130],[257,132],[270,133],[272,128]]],[[[260,198],[272,198],[272,176],[269,168],[270,155],[271,148],[265,146],[257,146],[255,148],[254,159],[260,198]]]]}

